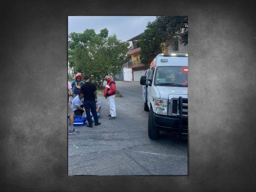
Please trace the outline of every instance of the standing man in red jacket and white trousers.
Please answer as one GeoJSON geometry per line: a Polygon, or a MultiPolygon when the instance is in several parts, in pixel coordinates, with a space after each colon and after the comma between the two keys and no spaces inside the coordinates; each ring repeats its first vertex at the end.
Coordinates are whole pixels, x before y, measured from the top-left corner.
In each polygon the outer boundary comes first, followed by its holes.
{"type": "Polygon", "coordinates": [[[109,119],[115,119],[116,118],[116,112],[115,112],[115,81],[110,78],[108,75],[104,78],[105,81],[107,81],[107,85],[104,90],[104,97],[108,100],[109,105],[109,111],[110,114],[109,119]]]}

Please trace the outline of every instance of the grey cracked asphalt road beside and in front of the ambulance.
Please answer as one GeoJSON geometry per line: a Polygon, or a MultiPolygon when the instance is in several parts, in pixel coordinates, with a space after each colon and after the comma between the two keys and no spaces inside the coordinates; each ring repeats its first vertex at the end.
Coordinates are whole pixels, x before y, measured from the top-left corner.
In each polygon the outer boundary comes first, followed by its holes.
{"type": "Polygon", "coordinates": [[[98,95],[101,125],[68,135],[68,175],[187,175],[187,140],[164,132],[151,140],[142,86],[116,81],[116,89],[116,119],[108,119],[107,100],[98,95]]]}

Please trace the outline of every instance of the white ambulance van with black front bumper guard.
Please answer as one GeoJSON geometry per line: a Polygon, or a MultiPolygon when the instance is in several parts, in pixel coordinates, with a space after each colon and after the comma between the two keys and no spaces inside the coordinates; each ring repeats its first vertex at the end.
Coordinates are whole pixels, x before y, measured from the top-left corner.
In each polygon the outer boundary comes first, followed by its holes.
{"type": "Polygon", "coordinates": [[[188,130],[188,55],[159,54],[141,76],[144,110],[149,111],[148,135],[159,137],[159,130],[179,137],[188,130]]]}

